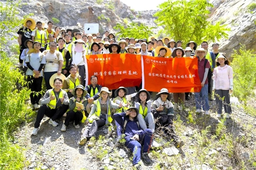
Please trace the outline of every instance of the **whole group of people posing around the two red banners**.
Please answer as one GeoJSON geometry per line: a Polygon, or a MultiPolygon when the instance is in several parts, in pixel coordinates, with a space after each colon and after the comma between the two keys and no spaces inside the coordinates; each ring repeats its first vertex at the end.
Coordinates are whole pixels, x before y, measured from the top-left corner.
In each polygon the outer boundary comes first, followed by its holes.
{"type": "MultiPolygon", "coordinates": [[[[125,134],[125,145],[134,152],[134,165],[140,159],[140,143],[144,142],[143,158],[150,162],[148,150],[155,130],[163,128],[164,133],[172,138],[176,146],[180,142],[172,126],[174,110],[184,110],[184,103],[189,100],[188,92],[174,93],[174,104],[166,88],[151,94],[145,89],[135,87],[120,87],[113,90],[97,84],[97,77],[90,78],[91,84],[85,85],[85,55],[94,54],[139,54],[152,57],[197,57],[198,75],[201,81],[201,91],[195,93],[196,112],[209,115],[209,101],[212,101],[212,91],[217,104],[217,117],[222,116],[224,104],[225,118],[232,113],[230,95],[233,91],[233,70],[227,58],[218,51],[219,44],[213,43],[213,51],[208,50],[208,42],[203,41],[201,48],[194,41],[186,43],[182,48],[181,41],[170,37],[156,39],[148,37],[136,40],[132,37],[121,38],[118,42],[113,33],[105,31],[99,34],[84,34],[78,29],[60,27],[52,28],[53,23],[25,20],[18,31],[20,45],[20,67],[26,74],[26,80],[31,89],[31,108],[39,109],[32,134],[36,135],[44,115],[50,117],[49,124],[57,126],[56,119],[67,112],[61,131],[66,131],[70,122],[79,128],[79,122],[88,122],[81,137],[80,144],[90,141],[96,136],[98,127],[112,122],[116,123],[118,139],[125,134]],[[35,29],[35,27],[37,27],[35,29]],[[41,99],[42,80],[45,80],[47,91],[41,99]],[[110,97],[113,100],[110,100],[110,97]],[[130,101],[135,97],[135,105],[130,101]],[[40,106],[41,105],[41,106],[40,106]],[[115,114],[111,115],[111,109],[115,114]],[[139,142],[140,143],[139,143],[139,142]],[[137,148],[136,150],[134,148],[137,148]]],[[[128,85],[127,85],[128,86],[128,85]]],[[[111,88],[111,87],[109,87],[111,88]]]]}

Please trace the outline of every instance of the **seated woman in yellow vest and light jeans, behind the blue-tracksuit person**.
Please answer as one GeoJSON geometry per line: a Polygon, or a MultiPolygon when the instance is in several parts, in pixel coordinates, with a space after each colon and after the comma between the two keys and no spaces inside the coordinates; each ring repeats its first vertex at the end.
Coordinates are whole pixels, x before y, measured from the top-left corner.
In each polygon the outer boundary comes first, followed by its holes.
{"type": "Polygon", "coordinates": [[[151,113],[151,100],[150,100],[150,93],[146,89],[141,89],[135,96],[136,103],[135,108],[139,110],[138,121],[140,123],[140,127],[143,130],[147,129],[148,127],[151,129],[152,133],[155,130],[155,123],[154,123],[154,116],[151,113]]]}

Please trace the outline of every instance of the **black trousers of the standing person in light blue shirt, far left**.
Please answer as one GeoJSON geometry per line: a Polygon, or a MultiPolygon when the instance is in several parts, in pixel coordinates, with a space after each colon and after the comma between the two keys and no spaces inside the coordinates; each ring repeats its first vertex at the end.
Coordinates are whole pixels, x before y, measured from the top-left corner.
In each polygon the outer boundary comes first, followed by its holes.
{"type": "Polygon", "coordinates": [[[29,82],[30,93],[30,101],[32,105],[38,104],[41,99],[42,94],[40,93],[42,90],[42,81],[43,77],[34,78],[33,76],[27,76],[27,81],[29,82]],[[35,93],[38,92],[38,93],[35,93]]]}

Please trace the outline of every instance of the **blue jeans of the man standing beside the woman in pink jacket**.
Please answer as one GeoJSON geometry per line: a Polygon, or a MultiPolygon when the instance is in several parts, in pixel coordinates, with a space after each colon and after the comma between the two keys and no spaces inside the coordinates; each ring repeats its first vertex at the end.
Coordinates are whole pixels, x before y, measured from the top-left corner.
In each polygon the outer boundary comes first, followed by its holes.
{"type": "Polygon", "coordinates": [[[204,111],[209,111],[208,84],[204,85],[199,93],[195,92],[195,107],[196,109],[203,108],[204,111]]]}

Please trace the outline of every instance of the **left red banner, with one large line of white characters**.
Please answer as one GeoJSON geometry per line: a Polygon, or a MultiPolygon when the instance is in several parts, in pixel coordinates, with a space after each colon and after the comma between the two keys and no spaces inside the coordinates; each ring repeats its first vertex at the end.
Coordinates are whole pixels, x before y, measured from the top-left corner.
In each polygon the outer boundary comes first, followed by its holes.
{"type": "Polygon", "coordinates": [[[90,77],[109,89],[139,86],[142,81],[141,56],[134,54],[98,54],[86,56],[86,85],[90,77]]]}

